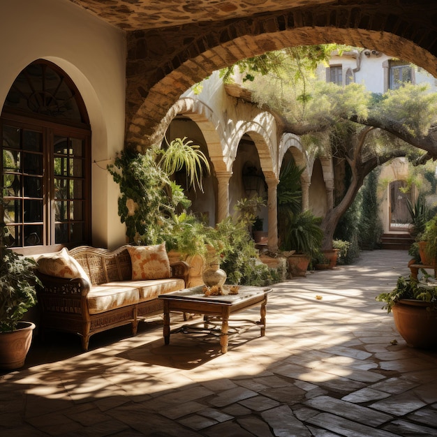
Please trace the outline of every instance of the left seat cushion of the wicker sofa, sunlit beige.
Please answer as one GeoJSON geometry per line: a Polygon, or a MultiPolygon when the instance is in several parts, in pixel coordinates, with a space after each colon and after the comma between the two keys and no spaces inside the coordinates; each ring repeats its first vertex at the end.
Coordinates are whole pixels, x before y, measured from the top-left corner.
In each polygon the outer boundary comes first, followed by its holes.
{"type": "Polygon", "coordinates": [[[92,286],[87,295],[88,311],[90,314],[104,313],[111,309],[137,304],[140,292],[135,286],[126,283],[108,283],[92,286]]]}

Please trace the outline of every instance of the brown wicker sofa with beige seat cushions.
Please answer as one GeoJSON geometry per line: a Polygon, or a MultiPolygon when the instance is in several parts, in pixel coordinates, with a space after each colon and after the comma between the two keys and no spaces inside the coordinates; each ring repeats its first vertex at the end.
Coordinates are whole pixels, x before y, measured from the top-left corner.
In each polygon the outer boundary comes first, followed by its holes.
{"type": "MultiPolygon", "coordinates": [[[[43,283],[43,290],[38,292],[40,332],[56,329],[79,334],[87,351],[91,335],[127,324],[132,325],[135,335],[139,320],[163,313],[158,295],[185,288],[189,267],[186,262],[170,265],[167,258],[163,261],[168,262],[165,274],[155,270],[151,278],[135,277],[130,251],[136,248],[140,249],[126,245],[110,251],[79,246],[38,258],[37,274],[43,283]],[[47,274],[47,262],[53,265],[54,261],[57,276],[52,270],[47,274]]],[[[151,265],[154,263],[156,259],[151,258],[151,265]]]]}

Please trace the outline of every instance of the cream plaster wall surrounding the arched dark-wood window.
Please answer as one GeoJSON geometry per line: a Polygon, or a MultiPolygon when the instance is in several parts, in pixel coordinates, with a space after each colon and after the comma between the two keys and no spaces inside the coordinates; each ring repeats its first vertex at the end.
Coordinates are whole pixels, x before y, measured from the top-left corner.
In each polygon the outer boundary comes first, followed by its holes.
{"type": "Polygon", "coordinates": [[[125,241],[117,186],[105,169],[124,147],[126,40],[124,33],[67,0],[0,1],[0,105],[15,77],[48,59],[73,79],[92,129],[92,235],[96,246],[125,241]]]}

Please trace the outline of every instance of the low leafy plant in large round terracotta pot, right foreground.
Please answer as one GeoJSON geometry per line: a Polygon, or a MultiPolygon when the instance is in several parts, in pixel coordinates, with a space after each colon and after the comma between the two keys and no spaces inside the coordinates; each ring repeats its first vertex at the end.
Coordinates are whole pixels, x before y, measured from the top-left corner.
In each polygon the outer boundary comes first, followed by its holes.
{"type": "Polygon", "coordinates": [[[400,276],[391,292],[376,297],[392,312],[396,328],[413,348],[437,348],[437,283],[400,276]]]}

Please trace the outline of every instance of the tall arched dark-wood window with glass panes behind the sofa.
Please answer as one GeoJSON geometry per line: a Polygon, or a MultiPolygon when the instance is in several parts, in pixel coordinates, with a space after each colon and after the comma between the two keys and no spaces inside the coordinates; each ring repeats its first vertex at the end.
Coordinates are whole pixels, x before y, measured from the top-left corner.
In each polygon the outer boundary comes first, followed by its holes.
{"type": "Polygon", "coordinates": [[[24,68],[6,97],[0,135],[8,246],[89,243],[91,129],[68,75],[44,60],[24,68]]]}

